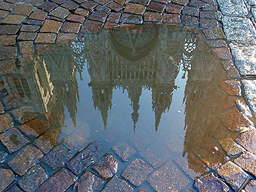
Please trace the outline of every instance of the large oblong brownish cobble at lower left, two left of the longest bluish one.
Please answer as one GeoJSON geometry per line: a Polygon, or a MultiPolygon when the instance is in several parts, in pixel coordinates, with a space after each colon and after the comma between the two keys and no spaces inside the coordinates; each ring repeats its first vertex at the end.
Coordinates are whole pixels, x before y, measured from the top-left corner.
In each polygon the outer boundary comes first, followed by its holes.
{"type": "Polygon", "coordinates": [[[33,146],[24,147],[12,160],[9,161],[8,165],[12,170],[19,176],[22,176],[29,170],[33,165],[36,164],[38,159],[43,156],[40,149],[36,149],[33,146]]]}

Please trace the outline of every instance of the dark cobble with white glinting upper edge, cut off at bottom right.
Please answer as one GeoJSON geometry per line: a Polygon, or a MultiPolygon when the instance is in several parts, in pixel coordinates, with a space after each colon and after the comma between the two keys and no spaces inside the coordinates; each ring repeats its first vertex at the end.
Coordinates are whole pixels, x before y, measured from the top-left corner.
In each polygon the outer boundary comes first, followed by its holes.
{"type": "Polygon", "coordinates": [[[213,173],[202,176],[199,179],[195,180],[194,187],[199,192],[228,192],[230,187],[227,186],[219,178],[215,177],[213,173]]]}

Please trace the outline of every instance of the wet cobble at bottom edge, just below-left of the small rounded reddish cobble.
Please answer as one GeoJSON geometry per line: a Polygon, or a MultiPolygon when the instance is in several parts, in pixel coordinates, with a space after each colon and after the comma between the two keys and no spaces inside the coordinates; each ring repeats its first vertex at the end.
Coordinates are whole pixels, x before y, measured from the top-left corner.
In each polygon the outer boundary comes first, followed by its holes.
{"type": "Polygon", "coordinates": [[[101,178],[86,170],[78,179],[78,192],[97,191],[102,187],[103,183],[104,181],[101,178]]]}

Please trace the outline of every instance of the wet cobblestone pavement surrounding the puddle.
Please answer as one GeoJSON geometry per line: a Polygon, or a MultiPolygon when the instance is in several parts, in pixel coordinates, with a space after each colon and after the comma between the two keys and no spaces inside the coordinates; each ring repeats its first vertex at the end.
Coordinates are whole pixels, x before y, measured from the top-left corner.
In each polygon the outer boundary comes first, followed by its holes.
{"type": "MultiPolygon", "coordinates": [[[[256,130],[250,120],[256,117],[255,21],[254,0],[0,1],[0,77],[12,74],[20,67],[19,60],[26,60],[29,54],[40,55],[51,44],[75,39],[80,33],[146,22],[199,27],[230,76],[220,87],[230,95],[244,94],[245,100],[238,98],[237,108],[220,117],[227,129],[240,134],[235,141],[220,141],[229,159],[213,164],[202,157],[200,163],[209,169],[192,178],[194,187],[199,191],[256,191],[256,130]]],[[[53,125],[35,119],[40,114],[31,108],[19,108],[26,98],[19,91],[7,94],[5,84],[0,81],[0,141],[6,149],[0,149],[0,191],[65,191],[71,187],[78,191],[133,191],[145,181],[156,191],[182,191],[189,181],[177,165],[195,175],[182,162],[150,166],[145,157],[130,161],[122,177],[118,176],[114,153],[107,153],[102,143],[93,142],[76,154],[67,145],[58,145],[56,133],[50,129],[53,125]],[[47,173],[42,165],[56,171],[47,173]]],[[[124,161],[134,154],[126,143],[112,146],[112,150],[124,161]]],[[[147,156],[150,146],[141,151],[147,156]]]]}

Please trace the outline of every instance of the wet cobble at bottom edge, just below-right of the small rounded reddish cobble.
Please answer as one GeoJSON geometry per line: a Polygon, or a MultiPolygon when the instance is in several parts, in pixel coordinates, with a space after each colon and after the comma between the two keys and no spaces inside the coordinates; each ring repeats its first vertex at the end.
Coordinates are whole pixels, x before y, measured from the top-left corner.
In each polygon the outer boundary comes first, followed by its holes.
{"type": "Polygon", "coordinates": [[[102,192],[112,192],[112,191],[125,191],[133,192],[133,187],[131,187],[125,180],[120,179],[116,175],[106,183],[102,192]]]}

